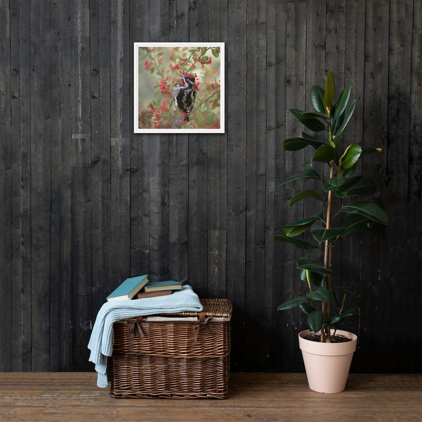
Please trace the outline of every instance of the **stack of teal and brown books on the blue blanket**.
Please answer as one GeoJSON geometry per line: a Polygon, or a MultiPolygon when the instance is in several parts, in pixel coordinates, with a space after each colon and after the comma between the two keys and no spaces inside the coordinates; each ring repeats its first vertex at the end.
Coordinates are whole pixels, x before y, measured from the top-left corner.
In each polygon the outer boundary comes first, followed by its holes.
{"type": "Polygon", "coordinates": [[[143,299],[171,295],[173,290],[180,290],[181,288],[182,284],[179,281],[170,280],[150,283],[148,275],[131,277],[130,279],[124,280],[111,295],[107,296],[107,302],[112,300],[143,299]]]}

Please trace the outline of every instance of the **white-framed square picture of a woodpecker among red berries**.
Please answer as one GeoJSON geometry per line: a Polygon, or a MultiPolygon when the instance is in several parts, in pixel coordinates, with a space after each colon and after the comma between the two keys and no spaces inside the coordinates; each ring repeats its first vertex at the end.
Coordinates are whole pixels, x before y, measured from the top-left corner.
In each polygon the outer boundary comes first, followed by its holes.
{"type": "Polygon", "coordinates": [[[135,133],[224,133],[224,43],[134,43],[135,133]]]}

